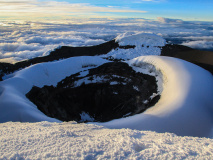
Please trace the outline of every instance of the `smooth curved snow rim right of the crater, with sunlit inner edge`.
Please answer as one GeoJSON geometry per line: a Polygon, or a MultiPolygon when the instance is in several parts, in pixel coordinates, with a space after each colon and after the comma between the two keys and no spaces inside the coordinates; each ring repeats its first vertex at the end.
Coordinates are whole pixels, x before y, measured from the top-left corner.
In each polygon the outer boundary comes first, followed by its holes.
{"type": "Polygon", "coordinates": [[[162,73],[163,91],[158,103],[142,114],[100,125],[209,136],[213,114],[212,75],[194,64],[170,57],[142,56],[129,64],[140,72],[144,62],[153,64],[162,73]]]}

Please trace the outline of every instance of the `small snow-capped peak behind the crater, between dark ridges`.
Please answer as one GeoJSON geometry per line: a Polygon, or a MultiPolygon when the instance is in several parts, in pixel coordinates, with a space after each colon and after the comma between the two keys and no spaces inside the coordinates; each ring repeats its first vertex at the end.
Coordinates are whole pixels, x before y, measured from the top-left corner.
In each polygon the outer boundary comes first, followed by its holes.
{"type": "Polygon", "coordinates": [[[162,37],[149,33],[127,32],[116,37],[119,46],[135,46],[130,49],[115,49],[104,57],[129,60],[138,56],[160,55],[161,47],[166,44],[162,37]]]}

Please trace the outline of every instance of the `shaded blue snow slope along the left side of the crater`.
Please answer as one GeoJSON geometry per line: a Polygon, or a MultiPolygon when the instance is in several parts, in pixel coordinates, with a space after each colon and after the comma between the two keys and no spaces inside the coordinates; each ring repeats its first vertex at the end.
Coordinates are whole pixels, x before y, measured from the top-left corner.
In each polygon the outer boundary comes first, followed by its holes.
{"type": "Polygon", "coordinates": [[[56,119],[44,115],[26,98],[33,86],[56,85],[66,76],[83,71],[85,67],[98,66],[108,62],[99,57],[73,57],[57,62],[33,65],[0,82],[0,122],[38,122],[56,119]]]}

